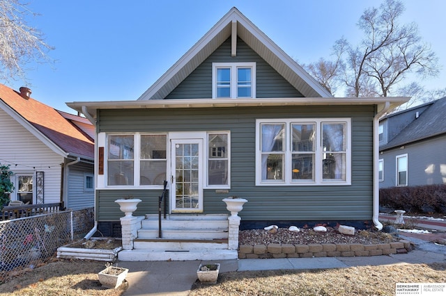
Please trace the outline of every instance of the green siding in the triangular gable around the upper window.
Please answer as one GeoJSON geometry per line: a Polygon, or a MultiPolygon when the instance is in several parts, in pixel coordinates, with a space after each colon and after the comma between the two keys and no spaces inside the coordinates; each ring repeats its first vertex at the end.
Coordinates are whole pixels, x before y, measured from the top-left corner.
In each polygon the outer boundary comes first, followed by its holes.
{"type": "Polygon", "coordinates": [[[242,62],[256,62],[256,97],[303,97],[240,38],[237,41],[237,56],[231,57],[231,38],[229,38],[165,99],[210,99],[212,63],[242,62]]]}

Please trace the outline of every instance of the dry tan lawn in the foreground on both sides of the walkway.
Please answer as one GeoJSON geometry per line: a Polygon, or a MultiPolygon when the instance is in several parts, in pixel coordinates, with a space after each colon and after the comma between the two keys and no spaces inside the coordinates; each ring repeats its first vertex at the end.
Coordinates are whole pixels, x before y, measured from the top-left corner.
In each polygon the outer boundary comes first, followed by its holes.
{"type": "MultiPolygon", "coordinates": [[[[54,260],[15,274],[0,285],[0,295],[122,295],[104,289],[99,261],[54,260]]],[[[130,270],[131,272],[131,270],[130,270]]],[[[395,283],[445,283],[446,263],[382,265],[334,270],[228,272],[215,285],[194,283],[190,295],[394,295],[395,283]]]]}

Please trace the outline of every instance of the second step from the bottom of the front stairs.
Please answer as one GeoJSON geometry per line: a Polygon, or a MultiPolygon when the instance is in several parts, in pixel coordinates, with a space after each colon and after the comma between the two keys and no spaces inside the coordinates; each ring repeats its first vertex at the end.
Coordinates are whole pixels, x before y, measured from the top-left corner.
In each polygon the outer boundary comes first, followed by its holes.
{"type": "Polygon", "coordinates": [[[164,251],[185,251],[192,249],[228,249],[227,239],[217,240],[178,240],[169,238],[133,240],[134,249],[159,249],[164,251]]]}

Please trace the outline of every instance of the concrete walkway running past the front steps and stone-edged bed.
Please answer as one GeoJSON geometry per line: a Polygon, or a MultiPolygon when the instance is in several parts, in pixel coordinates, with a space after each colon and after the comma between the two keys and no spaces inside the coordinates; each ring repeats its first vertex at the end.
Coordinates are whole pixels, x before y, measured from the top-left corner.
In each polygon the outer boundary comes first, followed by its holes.
{"type": "MultiPolygon", "coordinates": [[[[443,233],[446,221],[433,227],[443,233]]],[[[224,261],[120,261],[118,265],[129,268],[128,288],[123,295],[188,295],[192,284],[197,281],[197,269],[201,263],[220,263],[220,273],[248,270],[318,270],[349,268],[365,265],[446,263],[446,246],[427,239],[406,236],[416,246],[408,254],[392,254],[369,257],[323,257],[323,258],[279,258],[279,259],[233,259],[224,261]]]]}

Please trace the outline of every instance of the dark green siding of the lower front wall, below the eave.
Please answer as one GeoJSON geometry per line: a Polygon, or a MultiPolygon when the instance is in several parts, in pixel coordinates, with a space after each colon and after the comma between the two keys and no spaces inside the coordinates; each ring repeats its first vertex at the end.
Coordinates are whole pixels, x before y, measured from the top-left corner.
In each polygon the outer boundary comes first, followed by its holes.
{"type": "MultiPolygon", "coordinates": [[[[371,220],[374,106],[286,106],[100,110],[99,132],[231,131],[229,194],[204,190],[204,213],[228,213],[222,199],[248,200],[240,217],[249,220],[371,220]],[[351,186],[255,186],[255,122],[258,118],[352,118],[351,186]]],[[[137,215],[157,213],[161,190],[98,190],[98,220],[118,220],[115,199],[143,200],[137,215]]]]}

